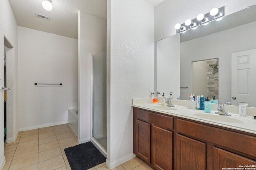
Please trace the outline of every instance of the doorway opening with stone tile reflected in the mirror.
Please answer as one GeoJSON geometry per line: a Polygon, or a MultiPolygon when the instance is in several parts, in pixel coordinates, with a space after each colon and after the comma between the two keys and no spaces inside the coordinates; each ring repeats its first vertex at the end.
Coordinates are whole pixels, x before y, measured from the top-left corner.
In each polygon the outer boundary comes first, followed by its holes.
{"type": "Polygon", "coordinates": [[[219,98],[218,59],[192,62],[192,94],[219,98]]]}

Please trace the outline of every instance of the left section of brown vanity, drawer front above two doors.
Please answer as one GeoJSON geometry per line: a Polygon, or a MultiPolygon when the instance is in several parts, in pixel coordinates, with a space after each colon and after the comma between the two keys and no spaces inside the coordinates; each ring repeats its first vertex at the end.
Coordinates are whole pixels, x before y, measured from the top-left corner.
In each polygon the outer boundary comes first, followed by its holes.
{"type": "Polygon", "coordinates": [[[134,107],[134,153],[156,170],[172,170],[172,121],[134,107]]]}

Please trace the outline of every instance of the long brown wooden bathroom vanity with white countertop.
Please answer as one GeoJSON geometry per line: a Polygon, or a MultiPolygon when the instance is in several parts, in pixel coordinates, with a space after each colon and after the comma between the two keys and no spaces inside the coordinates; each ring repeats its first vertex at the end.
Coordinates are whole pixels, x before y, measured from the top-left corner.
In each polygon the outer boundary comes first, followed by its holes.
{"type": "MultiPolygon", "coordinates": [[[[209,121],[196,118],[194,115],[198,113],[191,112],[196,110],[181,106],[164,106],[163,109],[157,105],[152,107],[152,104],[133,106],[134,154],[152,168],[256,169],[256,131],[248,133],[255,130],[256,120],[253,118],[250,121],[248,117],[216,115],[224,121],[215,118],[209,121]],[[248,129],[239,126],[244,123],[248,129]]],[[[204,114],[208,113],[202,112],[204,114]]]]}

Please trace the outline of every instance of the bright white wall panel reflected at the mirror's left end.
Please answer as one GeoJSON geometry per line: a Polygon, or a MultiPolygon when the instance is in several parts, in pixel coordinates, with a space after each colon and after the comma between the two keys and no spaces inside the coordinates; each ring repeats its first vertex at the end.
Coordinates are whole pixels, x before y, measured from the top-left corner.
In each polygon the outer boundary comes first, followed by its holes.
{"type": "Polygon", "coordinates": [[[180,34],[156,43],[157,92],[176,99],[180,96],[180,34]]]}

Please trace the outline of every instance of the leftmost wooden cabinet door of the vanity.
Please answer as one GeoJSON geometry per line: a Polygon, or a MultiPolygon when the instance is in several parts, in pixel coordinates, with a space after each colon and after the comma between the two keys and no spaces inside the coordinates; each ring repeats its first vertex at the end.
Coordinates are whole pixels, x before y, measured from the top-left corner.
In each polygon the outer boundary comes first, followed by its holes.
{"type": "Polygon", "coordinates": [[[151,137],[150,124],[144,121],[136,120],[135,129],[135,154],[150,163],[150,137],[151,137]]]}

